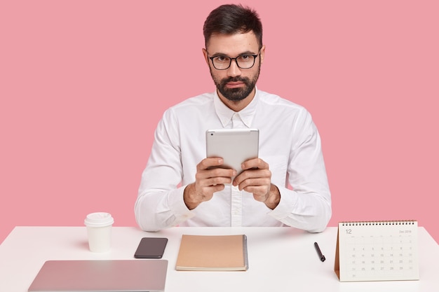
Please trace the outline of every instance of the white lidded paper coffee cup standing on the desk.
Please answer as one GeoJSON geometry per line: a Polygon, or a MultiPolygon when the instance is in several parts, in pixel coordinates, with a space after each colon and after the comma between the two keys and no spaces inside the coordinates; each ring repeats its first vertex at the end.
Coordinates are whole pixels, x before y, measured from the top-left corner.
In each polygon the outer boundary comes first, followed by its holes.
{"type": "Polygon", "coordinates": [[[110,250],[113,223],[114,219],[109,213],[96,212],[87,215],[84,224],[87,226],[90,251],[102,253],[110,250]]]}

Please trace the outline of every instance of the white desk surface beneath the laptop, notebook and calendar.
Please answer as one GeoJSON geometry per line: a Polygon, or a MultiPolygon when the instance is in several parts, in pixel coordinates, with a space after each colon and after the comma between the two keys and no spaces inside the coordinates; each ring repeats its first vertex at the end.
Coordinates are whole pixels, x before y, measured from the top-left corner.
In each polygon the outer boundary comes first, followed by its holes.
{"type": "Polygon", "coordinates": [[[114,227],[112,251],[88,251],[85,227],[16,227],[0,245],[0,291],[25,292],[50,259],[130,259],[142,237],[168,237],[166,292],[173,291],[439,291],[439,246],[419,228],[419,281],[339,282],[334,272],[337,228],[310,234],[294,228],[170,228],[143,232],[114,227]],[[246,272],[175,270],[182,234],[248,236],[246,272]],[[326,257],[321,262],[313,243],[326,257]]]}

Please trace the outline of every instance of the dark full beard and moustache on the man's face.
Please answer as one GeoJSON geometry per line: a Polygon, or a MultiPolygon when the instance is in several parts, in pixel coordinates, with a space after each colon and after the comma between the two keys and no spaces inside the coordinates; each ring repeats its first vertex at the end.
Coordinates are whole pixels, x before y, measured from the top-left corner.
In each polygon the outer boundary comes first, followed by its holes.
{"type": "Polygon", "coordinates": [[[215,78],[212,74],[212,68],[210,68],[210,75],[212,76],[213,82],[215,83],[217,90],[222,94],[225,98],[229,99],[231,102],[239,102],[245,97],[248,97],[250,93],[255,89],[256,81],[259,78],[260,66],[257,69],[257,73],[255,76],[252,76],[252,79],[248,77],[229,77],[219,80],[215,78]],[[227,88],[227,83],[229,82],[242,82],[245,84],[243,88],[227,88]]]}

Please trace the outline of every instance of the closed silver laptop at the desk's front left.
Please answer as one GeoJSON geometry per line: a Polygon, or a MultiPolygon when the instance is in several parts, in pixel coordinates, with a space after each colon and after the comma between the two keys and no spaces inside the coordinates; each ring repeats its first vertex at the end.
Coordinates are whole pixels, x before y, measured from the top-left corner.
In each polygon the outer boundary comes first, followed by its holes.
{"type": "Polygon", "coordinates": [[[164,291],[168,260],[48,260],[29,292],[164,291]]]}

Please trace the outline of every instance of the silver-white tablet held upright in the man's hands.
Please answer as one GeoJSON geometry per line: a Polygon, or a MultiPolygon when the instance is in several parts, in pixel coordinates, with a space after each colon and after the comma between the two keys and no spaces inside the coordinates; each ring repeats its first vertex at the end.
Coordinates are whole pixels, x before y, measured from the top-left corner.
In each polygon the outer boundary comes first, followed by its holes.
{"type": "MultiPolygon", "coordinates": [[[[259,153],[259,130],[220,129],[205,132],[207,157],[224,160],[221,167],[235,169],[240,174],[245,160],[257,158],[259,153]]],[[[232,177],[233,181],[234,177],[232,177]]]]}

